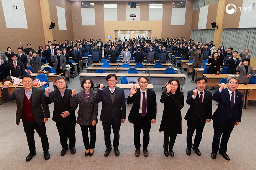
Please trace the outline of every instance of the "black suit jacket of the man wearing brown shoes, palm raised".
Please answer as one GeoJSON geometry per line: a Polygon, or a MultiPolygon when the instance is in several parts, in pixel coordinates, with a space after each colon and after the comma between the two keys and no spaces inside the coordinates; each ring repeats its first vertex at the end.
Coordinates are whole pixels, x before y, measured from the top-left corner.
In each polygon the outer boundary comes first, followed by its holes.
{"type": "MultiPolygon", "coordinates": [[[[127,98],[127,104],[132,104],[132,109],[128,116],[128,120],[131,123],[134,123],[140,110],[140,89],[137,89],[137,92],[127,98]]],[[[156,93],[154,90],[147,89],[147,119],[148,122],[151,122],[152,119],[156,119],[156,93]]]]}

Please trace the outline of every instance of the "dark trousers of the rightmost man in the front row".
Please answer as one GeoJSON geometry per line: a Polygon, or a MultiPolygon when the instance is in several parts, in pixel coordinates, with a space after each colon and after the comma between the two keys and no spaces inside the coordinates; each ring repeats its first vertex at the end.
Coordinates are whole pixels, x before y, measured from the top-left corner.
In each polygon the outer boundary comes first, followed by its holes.
{"type": "Polygon", "coordinates": [[[217,153],[220,151],[222,153],[227,152],[228,139],[234,128],[235,124],[231,124],[231,118],[228,118],[223,124],[218,124],[213,121],[213,140],[212,140],[212,152],[217,153]],[[221,137],[222,135],[222,137],[221,137]],[[221,137],[221,142],[220,142],[221,137]]]}

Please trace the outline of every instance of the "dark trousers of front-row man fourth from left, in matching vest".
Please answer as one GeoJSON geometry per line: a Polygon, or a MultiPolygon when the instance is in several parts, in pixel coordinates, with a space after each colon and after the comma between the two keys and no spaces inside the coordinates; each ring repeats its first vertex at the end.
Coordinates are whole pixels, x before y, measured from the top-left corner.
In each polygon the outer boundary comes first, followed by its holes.
{"type": "Polygon", "coordinates": [[[110,134],[111,134],[111,126],[113,129],[114,133],[114,140],[113,140],[113,147],[114,149],[118,149],[119,146],[119,131],[120,131],[120,126],[121,126],[121,121],[118,123],[114,122],[113,117],[111,118],[110,122],[102,122],[103,126],[103,131],[104,131],[104,140],[105,140],[105,145],[108,150],[111,150],[111,140],[110,140],[110,134]]]}

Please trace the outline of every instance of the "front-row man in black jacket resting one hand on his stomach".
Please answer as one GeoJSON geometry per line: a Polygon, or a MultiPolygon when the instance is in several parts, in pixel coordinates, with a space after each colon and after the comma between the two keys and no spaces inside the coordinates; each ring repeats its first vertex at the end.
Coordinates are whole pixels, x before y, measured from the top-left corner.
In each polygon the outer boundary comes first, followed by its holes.
{"type": "Polygon", "coordinates": [[[45,103],[54,103],[54,110],[52,120],[56,122],[56,127],[60,135],[60,144],[62,150],[61,156],[64,156],[69,149],[72,154],[76,153],[76,107],[70,106],[70,97],[72,90],[66,89],[66,78],[64,76],[58,76],[55,79],[56,87],[58,89],[50,92],[50,88],[45,88],[45,103]],[[69,145],[68,145],[69,140],[69,145]]]}

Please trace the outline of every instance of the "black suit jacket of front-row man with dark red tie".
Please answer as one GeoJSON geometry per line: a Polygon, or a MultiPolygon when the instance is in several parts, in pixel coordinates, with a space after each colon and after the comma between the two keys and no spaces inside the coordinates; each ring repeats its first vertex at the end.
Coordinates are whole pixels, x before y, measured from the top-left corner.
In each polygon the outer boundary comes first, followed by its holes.
{"type": "Polygon", "coordinates": [[[212,118],[212,93],[210,91],[204,90],[204,100],[202,105],[200,105],[199,94],[193,99],[193,90],[188,91],[188,97],[186,103],[190,105],[188,112],[185,116],[185,120],[191,123],[195,123],[196,120],[200,119],[203,124],[206,119],[212,118]]]}

